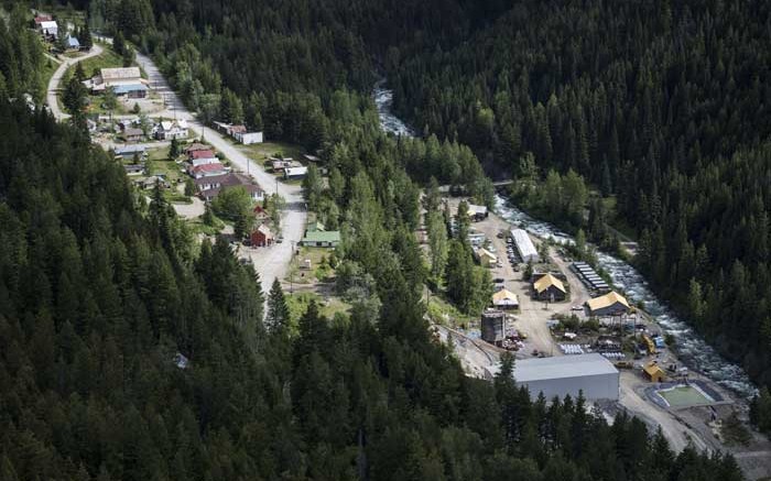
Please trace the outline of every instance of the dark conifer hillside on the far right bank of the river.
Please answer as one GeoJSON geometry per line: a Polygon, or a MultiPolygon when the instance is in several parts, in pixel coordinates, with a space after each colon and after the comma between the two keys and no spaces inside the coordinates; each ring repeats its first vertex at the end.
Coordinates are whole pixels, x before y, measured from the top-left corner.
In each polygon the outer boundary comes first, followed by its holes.
{"type": "Polygon", "coordinates": [[[573,170],[616,195],[653,285],[771,382],[771,6],[515,2],[391,66],[399,110],[492,172],[573,170]]]}

